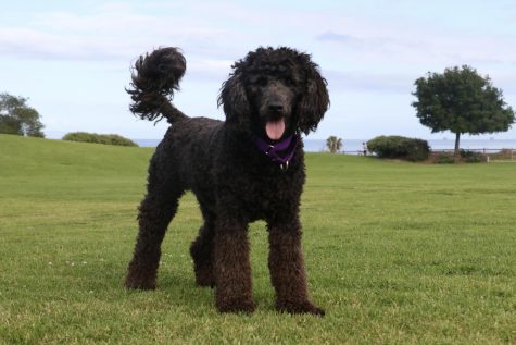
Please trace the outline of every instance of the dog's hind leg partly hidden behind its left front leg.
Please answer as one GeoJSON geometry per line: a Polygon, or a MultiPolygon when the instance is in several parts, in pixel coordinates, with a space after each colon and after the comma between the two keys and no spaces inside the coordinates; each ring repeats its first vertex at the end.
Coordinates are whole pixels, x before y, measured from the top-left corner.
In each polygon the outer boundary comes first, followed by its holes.
{"type": "Polygon", "coordinates": [[[199,235],[190,246],[190,255],[193,259],[193,271],[196,273],[196,282],[200,286],[215,286],[213,273],[213,236],[214,214],[207,211],[201,205],[204,224],[199,230],[199,235]]]}

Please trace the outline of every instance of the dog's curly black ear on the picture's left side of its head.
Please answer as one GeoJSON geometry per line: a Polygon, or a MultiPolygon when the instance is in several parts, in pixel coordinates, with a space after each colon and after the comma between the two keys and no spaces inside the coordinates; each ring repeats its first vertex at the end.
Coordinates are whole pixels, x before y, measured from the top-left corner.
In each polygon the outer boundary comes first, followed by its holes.
{"type": "Polygon", "coordinates": [[[224,106],[224,113],[228,124],[240,126],[247,121],[251,109],[241,81],[241,73],[236,71],[224,82],[217,103],[218,107],[224,106]]]}

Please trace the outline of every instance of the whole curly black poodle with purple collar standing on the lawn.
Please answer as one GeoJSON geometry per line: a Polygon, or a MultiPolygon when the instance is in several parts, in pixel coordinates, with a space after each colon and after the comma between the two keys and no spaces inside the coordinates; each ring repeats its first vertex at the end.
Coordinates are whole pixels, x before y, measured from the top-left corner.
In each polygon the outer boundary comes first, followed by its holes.
{"type": "Polygon", "coordinates": [[[250,222],[265,220],[276,308],[324,315],[309,299],[299,220],[300,134],[314,131],[329,106],[318,66],[289,48],[250,52],[222,87],[226,122],[188,118],[172,104],[186,70],[176,48],[140,57],[135,70],[131,111],[147,120],[164,116],[171,128],[150,162],[126,286],[155,288],[165,231],[180,196],[192,190],[204,218],[190,248],[196,281],[215,287],[218,311],[254,310],[247,232],[250,222]]]}

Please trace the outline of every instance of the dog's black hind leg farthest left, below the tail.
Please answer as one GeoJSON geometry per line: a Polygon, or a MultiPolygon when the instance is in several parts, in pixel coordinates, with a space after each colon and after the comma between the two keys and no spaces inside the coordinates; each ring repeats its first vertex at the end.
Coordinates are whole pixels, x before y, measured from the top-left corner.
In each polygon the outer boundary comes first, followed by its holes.
{"type": "Polygon", "coordinates": [[[129,288],[156,287],[161,244],[184,193],[177,185],[166,187],[155,180],[152,174],[149,176],[148,194],[139,208],[139,233],[125,281],[129,288]]]}

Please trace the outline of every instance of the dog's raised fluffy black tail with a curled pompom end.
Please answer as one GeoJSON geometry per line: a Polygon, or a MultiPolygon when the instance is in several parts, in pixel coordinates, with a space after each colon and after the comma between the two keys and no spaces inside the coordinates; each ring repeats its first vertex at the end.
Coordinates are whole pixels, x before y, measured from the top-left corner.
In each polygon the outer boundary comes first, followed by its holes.
{"type": "Polygon", "coordinates": [[[164,116],[171,124],[186,119],[172,103],[186,65],[177,48],[160,48],[140,56],[133,70],[131,89],[126,89],[133,99],[130,111],[142,120],[160,121],[164,116]]]}

